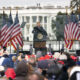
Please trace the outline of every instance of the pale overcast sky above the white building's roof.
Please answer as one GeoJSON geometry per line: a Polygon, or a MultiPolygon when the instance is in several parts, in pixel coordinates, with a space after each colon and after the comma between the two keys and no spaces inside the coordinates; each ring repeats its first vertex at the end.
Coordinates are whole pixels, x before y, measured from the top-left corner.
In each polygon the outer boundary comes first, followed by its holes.
{"type": "Polygon", "coordinates": [[[70,0],[0,0],[0,7],[3,6],[32,6],[36,3],[41,3],[41,5],[54,5],[54,6],[69,6],[70,0]]]}

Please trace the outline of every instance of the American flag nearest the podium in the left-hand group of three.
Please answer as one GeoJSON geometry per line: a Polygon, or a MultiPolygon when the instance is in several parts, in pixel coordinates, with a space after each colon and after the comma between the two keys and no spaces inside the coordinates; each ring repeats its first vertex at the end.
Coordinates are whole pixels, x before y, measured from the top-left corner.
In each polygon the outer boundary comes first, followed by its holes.
{"type": "Polygon", "coordinates": [[[17,44],[19,44],[19,47],[23,46],[23,40],[22,40],[22,33],[21,33],[21,28],[19,24],[19,19],[18,19],[18,13],[16,14],[15,22],[14,22],[14,28],[11,34],[11,39],[12,42],[11,44],[13,45],[14,49],[17,49],[17,44]]]}

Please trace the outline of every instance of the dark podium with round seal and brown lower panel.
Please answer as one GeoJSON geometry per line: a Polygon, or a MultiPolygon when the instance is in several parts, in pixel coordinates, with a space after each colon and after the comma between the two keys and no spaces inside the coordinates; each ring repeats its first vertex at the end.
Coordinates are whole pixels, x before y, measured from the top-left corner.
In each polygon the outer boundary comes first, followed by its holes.
{"type": "Polygon", "coordinates": [[[47,32],[43,29],[43,27],[34,27],[33,34],[33,48],[35,48],[35,52],[46,52],[47,32]]]}

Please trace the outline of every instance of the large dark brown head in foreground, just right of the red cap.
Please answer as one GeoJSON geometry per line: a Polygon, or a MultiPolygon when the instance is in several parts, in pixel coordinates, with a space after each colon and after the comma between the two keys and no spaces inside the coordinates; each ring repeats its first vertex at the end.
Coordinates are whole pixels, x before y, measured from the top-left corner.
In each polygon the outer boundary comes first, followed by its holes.
{"type": "Polygon", "coordinates": [[[14,80],[26,80],[28,75],[27,64],[23,61],[19,62],[15,72],[16,72],[16,78],[14,80]]]}

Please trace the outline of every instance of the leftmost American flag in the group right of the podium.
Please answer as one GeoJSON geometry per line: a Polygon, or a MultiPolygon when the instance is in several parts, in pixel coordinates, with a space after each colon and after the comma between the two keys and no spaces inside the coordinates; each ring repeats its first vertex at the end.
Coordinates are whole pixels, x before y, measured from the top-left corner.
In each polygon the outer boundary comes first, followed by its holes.
{"type": "Polygon", "coordinates": [[[68,19],[68,15],[66,15],[66,20],[65,20],[65,29],[64,29],[64,39],[65,39],[65,45],[66,48],[71,49],[73,45],[73,40],[70,40],[70,23],[68,19]],[[68,40],[69,39],[69,40],[68,40]]]}

